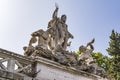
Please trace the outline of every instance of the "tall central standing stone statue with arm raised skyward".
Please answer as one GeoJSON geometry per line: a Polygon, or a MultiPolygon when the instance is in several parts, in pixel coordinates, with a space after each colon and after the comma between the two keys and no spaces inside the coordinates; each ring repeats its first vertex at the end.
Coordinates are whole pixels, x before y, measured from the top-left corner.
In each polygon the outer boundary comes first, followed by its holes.
{"type": "Polygon", "coordinates": [[[62,46],[64,50],[67,48],[69,38],[73,38],[72,34],[68,32],[66,24],[66,15],[62,15],[61,18],[57,17],[58,6],[52,15],[52,20],[48,23],[48,32],[51,37],[51,44],[55,48],[56,46],[62,46]]]}

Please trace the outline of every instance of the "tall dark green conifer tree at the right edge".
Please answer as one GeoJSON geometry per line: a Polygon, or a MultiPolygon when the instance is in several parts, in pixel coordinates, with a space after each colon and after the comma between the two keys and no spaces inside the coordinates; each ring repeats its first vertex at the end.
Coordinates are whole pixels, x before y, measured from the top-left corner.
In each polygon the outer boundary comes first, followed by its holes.
{"type": "Polygon", "coordinates": [[[111,55],[109,77],[112,80],[120,80],[120,33],[112,30],[110,35],[108,54],[111,55]]]}

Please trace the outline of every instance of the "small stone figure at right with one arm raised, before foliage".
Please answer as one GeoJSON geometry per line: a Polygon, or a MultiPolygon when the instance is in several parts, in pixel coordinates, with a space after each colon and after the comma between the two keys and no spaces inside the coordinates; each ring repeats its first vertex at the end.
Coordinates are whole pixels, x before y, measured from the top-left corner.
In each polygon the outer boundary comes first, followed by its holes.
{"type": "Polygon", "coordinates": [[[94,50],[92,43],[94,43],[94,39],[91,42],[89,42],[87,46],[82,45],[79,47],[79,51],[81,52],[80,60],[86,61],[87,65],[89,65],[90,62],[94,61],[91,55],[94,50]],[[90,46],[90,49],[87,48],[88,46],[90,46]]]}

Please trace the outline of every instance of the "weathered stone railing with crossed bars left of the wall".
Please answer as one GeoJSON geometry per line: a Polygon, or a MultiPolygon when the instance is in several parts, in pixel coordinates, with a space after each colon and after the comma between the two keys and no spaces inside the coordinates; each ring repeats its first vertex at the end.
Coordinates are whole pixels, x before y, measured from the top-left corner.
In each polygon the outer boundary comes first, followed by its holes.
{"type": "MultiPolygon", "coordinates": [[[[10,80],[31,80],[33,60],[22,55],[0,49],[0,78],[10,80]],[[26,78],[26,79],[25,79],[26,78]]],[[[2,80],[4,80],[2,79],[2,80]]]]}

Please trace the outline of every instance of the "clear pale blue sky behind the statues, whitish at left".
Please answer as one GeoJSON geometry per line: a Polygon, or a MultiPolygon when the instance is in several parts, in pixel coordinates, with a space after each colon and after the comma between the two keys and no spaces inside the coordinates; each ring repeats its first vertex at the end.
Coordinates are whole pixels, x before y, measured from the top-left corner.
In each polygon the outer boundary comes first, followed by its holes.
{"type": "Polygon", "coordinates": [[[47,29],[55,2],[74,36],[68,49],[78,51],[95,38],[95,52],[107,55],[112,29],[120,33],[120,0],[0,0],[0,48],[23,54],[30,34],[47,29]]]}

